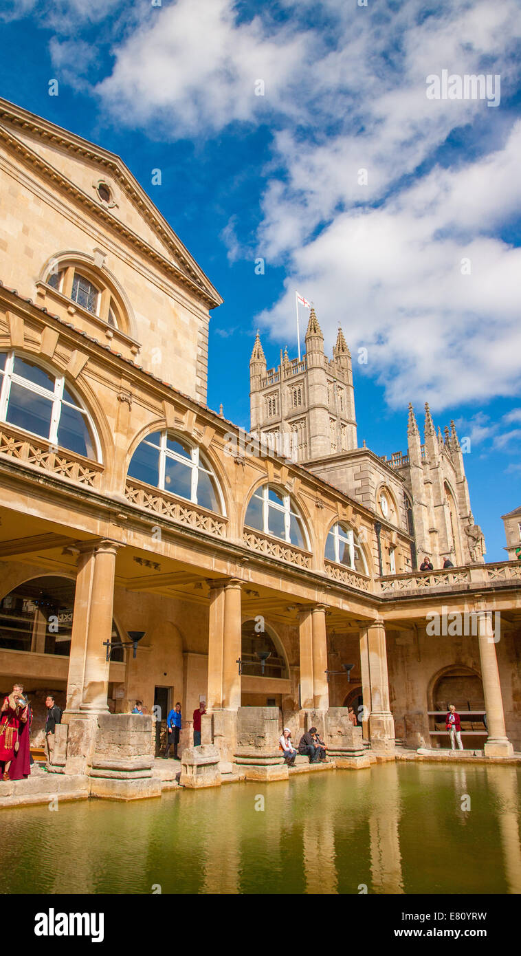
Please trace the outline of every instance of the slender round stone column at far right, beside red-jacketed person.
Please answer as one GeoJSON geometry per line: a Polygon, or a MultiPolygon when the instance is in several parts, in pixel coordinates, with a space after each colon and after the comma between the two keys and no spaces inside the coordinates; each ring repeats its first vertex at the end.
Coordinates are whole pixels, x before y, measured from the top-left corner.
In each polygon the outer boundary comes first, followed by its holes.
{"type": "Polygon", "coordinates": [[[494,636],[490,619],[486,614],[478,616],[478,641],[488,724],[485,755],[487,757],[511,757],[513,747],[505,729],[505,713],[501,697],[494,636]]]}

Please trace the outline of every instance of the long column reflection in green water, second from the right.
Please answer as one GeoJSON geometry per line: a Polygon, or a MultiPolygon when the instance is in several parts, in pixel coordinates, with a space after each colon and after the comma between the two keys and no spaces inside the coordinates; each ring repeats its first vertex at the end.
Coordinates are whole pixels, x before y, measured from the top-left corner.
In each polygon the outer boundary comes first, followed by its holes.
{"type": "Polygon", "coordinates": [[[403,893],[398,767],[394,761],[383,764],[373,778],[369,816],[373,892],[403,893]]]}

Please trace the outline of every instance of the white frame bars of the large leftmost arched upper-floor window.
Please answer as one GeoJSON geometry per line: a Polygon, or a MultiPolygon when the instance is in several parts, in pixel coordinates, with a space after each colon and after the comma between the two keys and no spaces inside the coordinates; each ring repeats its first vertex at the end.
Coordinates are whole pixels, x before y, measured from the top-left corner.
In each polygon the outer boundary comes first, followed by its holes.
{"type": "MultiPolygon", "coordinates": [[[[50,368],[46,364],[40,361],[35,361],[33,356],[26,354],[21,354],[15,349],[11,352],[2,353],[6,356],[6,365],[5,368],[0,369],[0,376],[2,378],[2,385],[0,388],[0,422],[4,422],[10,428],[19,428],[22,431],[26,431],[29,435],[34,435],[40,440],[43,439],[45,442],[49,442],[50,445],[58,446],[58,427],[61,417],[61,408],[62,405],[66,405],[68,408],[74,408],[76,411],[80,412],[81,415],[85,417],[88,424],[90,425],[91,435],[94,442],[94,450],[96,458],[94,461],[101,462],[101,447],[99,445],[98,432],[95,428],[94,422],[89,415],[87,409],[82,405],[82,403],[76,398],[75,391],[71,388],[69,382],[65,381],[65,376],[56,372],[55,369],[50,368]],[[50,388],[44,388],[42,385],[36,385],[33,381],[24,379],[23,376],[18,375],[13,371],[14,359],[22,359],[22,361],[32,362],[37,368],[41,368],[42,372],[46,372],[48,375],[54,378],[54,390],[50,388]],[[40,398],[47,399],[49,402],[53,402],[53,408],[51,412],[51,424],[49,428],[49,435],[39,435],[35,431],[30,431],[29,428],[22,428],[21,425],[12,425],[7,420],[7,413],[9,408],[9,400],[11,396],[11,383],[14,382],[17,385],[22,385],[23,388],[28,392],[33,392],[34,395],[38,395],[40,398]],[[63,392],[65,387],[74,398],[76,399],[76,404],[73,402],[68,402],[67,399],[63,398],[63,392]]],[[[64,450],[69,450],[71,454],[76,454],[75,451],[65,448],[64,450]]],[[[93,459],[90,459],[93,461],[93,459]]]]}

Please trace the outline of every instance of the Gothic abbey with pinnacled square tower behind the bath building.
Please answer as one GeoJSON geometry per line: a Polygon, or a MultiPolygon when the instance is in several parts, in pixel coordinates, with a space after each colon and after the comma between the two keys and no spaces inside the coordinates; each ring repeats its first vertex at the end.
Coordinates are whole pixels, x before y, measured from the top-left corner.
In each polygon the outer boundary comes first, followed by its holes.
{"type": "Polygon", "coordinates": [[[342,330],[329,359],[312,309],[305,343],[301,360],[289,359],[285,349],[278,367],[268,369],[257,333],[250,359],[251,432],[275,451],[287,455],[291,448],[299,464],[375,512],[378,526],[391,532],[391,546],[381,549],[380,574],[398,570],[393,529],[410,534],[408,568],[418,567],[424,554],[435,568],[445,558],[456,566],[483,562],[485,540],[470,510],[454,423],[445,434],[436,430],[425,403],[422,441],[409,405],[405,453],[387,458],[365,443],[359,448],[352,359],[342,330]]]}

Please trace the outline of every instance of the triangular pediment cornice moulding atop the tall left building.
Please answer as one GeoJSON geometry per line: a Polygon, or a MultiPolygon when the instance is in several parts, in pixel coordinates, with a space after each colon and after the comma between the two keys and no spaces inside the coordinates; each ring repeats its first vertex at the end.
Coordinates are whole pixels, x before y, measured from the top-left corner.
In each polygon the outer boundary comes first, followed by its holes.
{"type": "MultiPolygon", "coordinates": [[[[71,139],[69,139],[69,134],[63,130],[59,130],[59,127],[52,127],[55,131],[54,133],[46,133],[46,131],[39,126],[37,118],[34,117],[33,122],[22,120],[22,118],[13,115],[10,110],[6,110],[3,103],[5,103],[5,100],[0,99],[0,120],[9,120],[10,123],[17,124],[21,128],[25,128],[39,135],[42,139],[47,139],[49,142],[54,143],[54,145],[58,144],[63,148],[69,149],[71,152],[74,152],[76,156],[83,155],[85,159],[100,164],[104,169],[110,168],[111,174],[118,180],[119,185],[121,185],[133,203],[138,206],[143,218],[154,228],[166,248],[172,251],[172,254],[182,263],[184,269],[180,269],[180,267],[173,262],[169,262],[161,252],[154,250],[147,242],[141,239],[137,233],[125,226],[124,223],[121,223],[108,208],[100,206],[94,199],[83,192],[79,186],[72,183],[63,173],[55,169],[51,163],[48,163],[43,157],[39,156],[38,153],[34,152],[26,142],[15,137],[7,127],[0,126],[0,139],[11,149],[11,152],[14,152],[18,157],[21,156],[26,163],[31,164],[33,168],[37,169],[40,175],[44,176],[48,181],[64,189],[69,197],[75,199],[81,206],[86,207],[89,212],[100,219],[105,226],[118,232],[130,245],[139,250],[141,255],[152,260],[154,264],[168,274],[171,279],[185,286],[185,288],[197,298],[203,299],[209,309],[213,309],[222,304],[223,299],[211,285],[205,272],[197,266],[195,260],[193,260],[189,252],[185,250],[181,240],[178,239],[175,232],[168,227],[146,193],[141,190],[141,186],[130,176],[130,173],[127,174],[126,167],[124,167],[124,164],[119,160],[119,157],[110,153],[103,156],[103,151],[97,152],[92,146],[90,149],[87,149],[86,145],[76,145],[74,142],[75,138],[71,136],[71,139]],[[57,135],[58,133],[60,135],[57,135]]],[[[28,116],[32,115],[28,114],[28,116]]],[[[82,142],[84,143],[84,141],[79,141],[79,143],[82,142]]]]}

